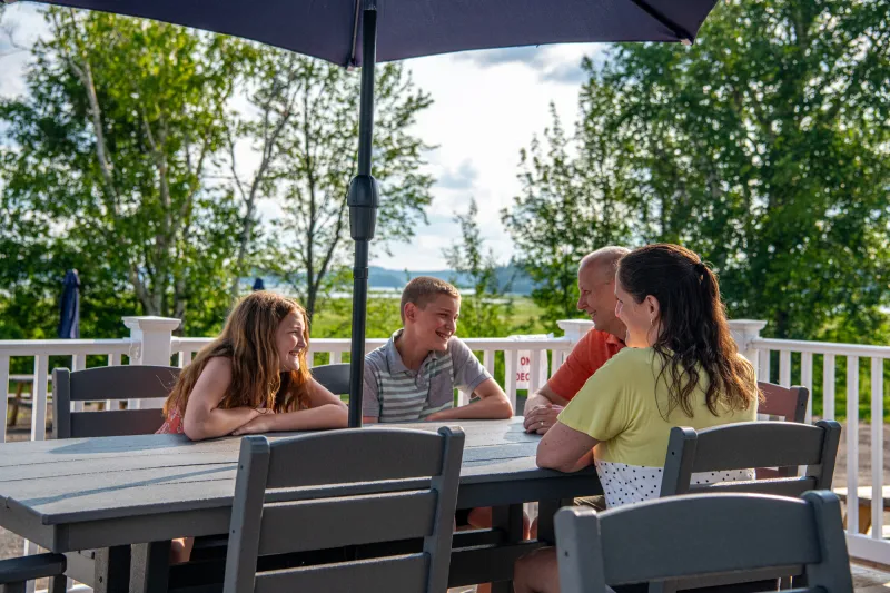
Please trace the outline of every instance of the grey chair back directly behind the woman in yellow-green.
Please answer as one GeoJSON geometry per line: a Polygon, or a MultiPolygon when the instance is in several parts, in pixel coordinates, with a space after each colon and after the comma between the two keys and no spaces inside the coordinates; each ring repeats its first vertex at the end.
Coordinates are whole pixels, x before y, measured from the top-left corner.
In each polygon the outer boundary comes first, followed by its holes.
{"type": "Polygon", "coordinates": [[[745,492],[800,496],[808,490],[830,490],[841,425],[819,421],[743,422],[695,432],[674,427],[668,442],[661,496],[699,492],[745,492]],[[692,474],[754,467],[797,467],[797,474],[772,480],[691,484],[692,474]]]}

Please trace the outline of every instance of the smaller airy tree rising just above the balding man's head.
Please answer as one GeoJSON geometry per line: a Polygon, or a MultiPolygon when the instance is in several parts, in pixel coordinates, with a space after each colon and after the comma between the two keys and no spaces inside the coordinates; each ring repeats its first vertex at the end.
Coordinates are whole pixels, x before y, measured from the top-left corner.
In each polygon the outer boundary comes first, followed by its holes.
{"type": "Polygon", "coordinates": [[[543,142],[534,138],[521,152],[523,192],[502,211],[545,322],[577,314],[577,266],[585,254],[630,239],[633,177],[614,137],[602,129],[607,109],[589,103],[589,119],[566,136],[551,107],[553,123],[543,142]]]}

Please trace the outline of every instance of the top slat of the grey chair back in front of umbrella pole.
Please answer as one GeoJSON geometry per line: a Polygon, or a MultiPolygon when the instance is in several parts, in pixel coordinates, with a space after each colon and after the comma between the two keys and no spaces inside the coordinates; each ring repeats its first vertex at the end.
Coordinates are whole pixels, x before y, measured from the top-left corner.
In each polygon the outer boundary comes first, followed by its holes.
{"type": "Polygon", "coordinates": [[[436,433],[405,428],[353,428],[276,441],[267,487],[428,477],[442,472],[442,447],[436,433]],[[287,454],[275,455],[280,447],[287,454]]]}

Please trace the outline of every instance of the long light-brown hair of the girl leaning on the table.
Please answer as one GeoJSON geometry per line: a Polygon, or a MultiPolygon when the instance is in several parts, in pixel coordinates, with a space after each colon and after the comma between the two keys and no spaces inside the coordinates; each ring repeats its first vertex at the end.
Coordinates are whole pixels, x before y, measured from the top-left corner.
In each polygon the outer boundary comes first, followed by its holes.
{"type": "Polygon", "coordinates": [[[217,356],[231,362],[231,384],[219,403],[220,408],[265,407],[275,412],[293,412],[306,407],[310,374],[306,364],[309,349],[309,322],[306,310],[295,300],[258,290],[236,305],[222,333],[201,348],[182,369],[172,392],[164,403],[164,414],[172,409],[185,413],[186,404],[207,363],[217,356]],[[299,370],[285,374],[281,388],[280,362],[276,333],[281,320],[296,313],[303,318],[306,348],[299,354],[299,370]],[[276,397],[281,391],[279,397],[276,397]]]}

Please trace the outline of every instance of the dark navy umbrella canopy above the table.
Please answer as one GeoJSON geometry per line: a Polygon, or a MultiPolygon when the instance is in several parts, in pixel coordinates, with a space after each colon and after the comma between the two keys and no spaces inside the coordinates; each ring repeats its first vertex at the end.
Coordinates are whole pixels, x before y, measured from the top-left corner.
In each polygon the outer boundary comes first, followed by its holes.
{"type": "MultiPolygon", "coordinates": [[[[367,0],[63,0],[363,63],[367,0]]],[[[715,0],[376,0],[377,61],[577,41],[692,41],[715,0]]]]}

